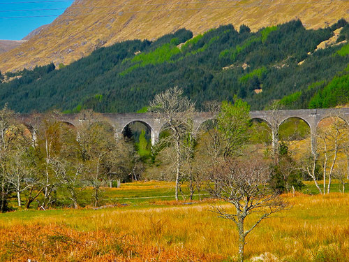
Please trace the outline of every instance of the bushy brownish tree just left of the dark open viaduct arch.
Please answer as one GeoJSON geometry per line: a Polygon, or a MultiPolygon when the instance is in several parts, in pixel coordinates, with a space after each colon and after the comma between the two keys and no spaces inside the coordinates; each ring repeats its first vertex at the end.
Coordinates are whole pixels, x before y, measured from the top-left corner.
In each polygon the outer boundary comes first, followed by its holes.
{"type": "Polygon", "coordinates": [[[112,126],[100,115],[82,112],[78,126],[84,180],[93,189],[94,206],[101,202],[101,189],[112,177],[130,173],[129,149],[124,140],[116,140],[112,126]]]}

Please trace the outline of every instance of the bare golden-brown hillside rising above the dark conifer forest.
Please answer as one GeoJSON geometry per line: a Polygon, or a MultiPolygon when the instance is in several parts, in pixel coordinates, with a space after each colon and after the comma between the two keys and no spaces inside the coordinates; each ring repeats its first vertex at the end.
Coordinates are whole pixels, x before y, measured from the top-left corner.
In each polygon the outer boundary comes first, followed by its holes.
{"type": "Polygon", "coordinates": [[[78,0],[40,34],[1,54],[0,71],[70,64],[101,46],[154,40],[179,28],[198,35],[223,24],[246,24],[256,31],[300,19],[307,29],[318,29],[348,17],[348,9],[347,0],[78,0]]]}

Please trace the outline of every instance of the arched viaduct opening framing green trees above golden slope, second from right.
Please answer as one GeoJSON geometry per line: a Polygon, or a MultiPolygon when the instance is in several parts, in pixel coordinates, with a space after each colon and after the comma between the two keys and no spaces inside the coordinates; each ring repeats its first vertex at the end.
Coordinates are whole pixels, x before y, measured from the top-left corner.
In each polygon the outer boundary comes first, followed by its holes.
{"type": "Polygon", "coordinates": [[[311,150],[311,127],[300,117],[289,117],[279,125],[281,154],[290,153],[302,159],[311,150]]]}

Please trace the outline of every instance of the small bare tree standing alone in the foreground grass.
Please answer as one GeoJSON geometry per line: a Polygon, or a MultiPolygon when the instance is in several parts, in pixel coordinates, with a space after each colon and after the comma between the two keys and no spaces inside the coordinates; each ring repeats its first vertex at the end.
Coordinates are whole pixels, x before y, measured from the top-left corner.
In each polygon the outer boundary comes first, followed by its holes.
{"type": "Polygon", "coordinates": [[[209,172],[209,179],[216,183],[216,187],[211,187],[211,194],[235,208],[235,212],[228,212],[221,207],[216,207],[213,211],[237,226],[238,261],[242,262],[246,236],[263,219],[272,217],[272,214],[284,210],[288,205],[269,188],[269,168],[256,159],[245,162],[221,159],[209,172]],[[255,215],[255,221],[252,226],[246,228],[245,219],[250,214],[255,215]]]}

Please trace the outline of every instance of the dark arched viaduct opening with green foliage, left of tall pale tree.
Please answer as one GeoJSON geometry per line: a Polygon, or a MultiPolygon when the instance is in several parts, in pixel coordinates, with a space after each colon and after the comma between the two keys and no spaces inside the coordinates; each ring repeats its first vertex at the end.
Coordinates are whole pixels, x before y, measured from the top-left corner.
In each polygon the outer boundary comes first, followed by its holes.
{"type": "Polygon", "coordinates": [[[122,130],[122,135],[128,143],[133,143],[140,157],[147,159],[151,156],[151,126],[146,122],[133,121],[122,130]]]}

